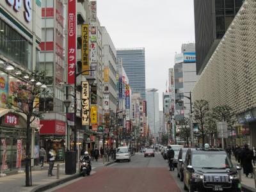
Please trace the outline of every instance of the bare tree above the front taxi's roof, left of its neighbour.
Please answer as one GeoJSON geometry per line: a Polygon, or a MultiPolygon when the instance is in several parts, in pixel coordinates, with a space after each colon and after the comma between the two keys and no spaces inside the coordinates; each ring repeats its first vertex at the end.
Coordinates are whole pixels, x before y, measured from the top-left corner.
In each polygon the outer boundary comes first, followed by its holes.
{"type": "Polygon", "coordinates": [[[203,146],[205,144],[205,136],[207,134],[207,118],[209,116],[209,103],[207,100],[196,100],[193,103],[193,114],[195,122],[198,123],[198,133],[202,137],[203,146]]]}

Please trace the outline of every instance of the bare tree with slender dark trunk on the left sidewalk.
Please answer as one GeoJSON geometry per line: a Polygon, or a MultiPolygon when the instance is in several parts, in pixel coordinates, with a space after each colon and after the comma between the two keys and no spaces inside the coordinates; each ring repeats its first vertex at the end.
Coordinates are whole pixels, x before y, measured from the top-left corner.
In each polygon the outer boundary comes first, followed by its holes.
{"type": "Polygon", "coordinates": [[[29,164],[31,161],[31,123],[36,118],[42,117],[42,113],[39,111],[39,97],[40,95],[47,95],[45,90],[46,76],[45,72],[33,71],[29,74],[20,74],[20,78],[24,81],[20,81],[14,84],[13,95],[8,97],[7,106],[15,113],[23,113],[27,116],[26,122],[26,186],[31,186],[29,175],[29,164]],[[42,86],[42,84],[44,86],[42,86]]]}

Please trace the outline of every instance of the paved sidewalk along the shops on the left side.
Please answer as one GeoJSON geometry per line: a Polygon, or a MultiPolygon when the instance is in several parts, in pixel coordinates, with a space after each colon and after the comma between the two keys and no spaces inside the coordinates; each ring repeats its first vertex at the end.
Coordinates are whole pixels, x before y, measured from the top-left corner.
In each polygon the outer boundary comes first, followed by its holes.
{"type": "MultiPolygon", "coordinates": [[[[98,162],[92,161],[92,173],[95,172],[95,168],[100,168],[103,166],[108,166],[109,164],[114,163],[114,161],[105,162],[103,164],[102,159],[99,159],[98,162]]],[[[79,177],[78,164],[77,172],[74,175],[65,175],[65,163],[60,164],[60,179],[56,177],[56,165],[54,163],[54,170],[52,173],[55,176],[48,177],[48,164],[45,164],[44,169],[41,169],[40,166],[35,166],[32,168],[32,186],[25,187],[25,173],[18,173],[15,175],[9,175],[6,177],[0,178],[0,191],[8,192],[28,192],[28,191],[40,191],[39,188],[44,186],[56,186],[68,180],[75,179],[79,177]]]]}

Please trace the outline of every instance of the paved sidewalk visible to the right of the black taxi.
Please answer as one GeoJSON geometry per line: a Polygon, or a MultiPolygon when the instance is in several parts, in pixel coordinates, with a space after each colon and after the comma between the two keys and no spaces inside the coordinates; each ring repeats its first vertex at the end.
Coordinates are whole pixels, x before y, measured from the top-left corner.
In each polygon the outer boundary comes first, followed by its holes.
{"type": "MultiPolygon", "coordinates": [[[[236,159],[234,156],[231,156],[231,161],[232,161],[232,164],[234,166],[237,166],[237,162],[236,162],[236,159]]],[[[253,166],[253,168],[256,168],[256,166],[253,166]]],[[[255,184],[254,184],[254,178],[250,178],[250,177],[245,177],[244,173],[243,173],[243,168],[241,170],[241,184],[242,184],[242,188],[243,188],[243,191],[255,191],[256,192],[256,189],[255,189],[255,184]]]]}

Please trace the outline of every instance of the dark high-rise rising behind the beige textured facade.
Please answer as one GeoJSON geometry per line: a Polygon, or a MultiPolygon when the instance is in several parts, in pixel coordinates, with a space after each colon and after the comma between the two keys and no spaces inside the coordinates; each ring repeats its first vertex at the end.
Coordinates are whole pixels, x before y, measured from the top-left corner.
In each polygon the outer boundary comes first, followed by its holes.
{"type": "Polygon", "coordinates": [[[196,73],[201,74],[243,0],[194,0],[196,73]]]}

